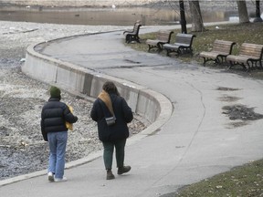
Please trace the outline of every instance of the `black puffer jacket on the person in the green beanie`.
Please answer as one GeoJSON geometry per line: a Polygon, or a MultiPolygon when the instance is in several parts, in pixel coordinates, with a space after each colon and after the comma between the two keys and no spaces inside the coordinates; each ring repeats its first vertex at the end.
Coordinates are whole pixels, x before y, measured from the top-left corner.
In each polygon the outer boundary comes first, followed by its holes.
{"type": "Polygon", "coordinates": [[[78,117],[74,116],[68,106],[58,98],[50,98],[42,109],[41,132],[47,141],[48,132],[67,131],[66,121],[75,123],[78,117]]]}

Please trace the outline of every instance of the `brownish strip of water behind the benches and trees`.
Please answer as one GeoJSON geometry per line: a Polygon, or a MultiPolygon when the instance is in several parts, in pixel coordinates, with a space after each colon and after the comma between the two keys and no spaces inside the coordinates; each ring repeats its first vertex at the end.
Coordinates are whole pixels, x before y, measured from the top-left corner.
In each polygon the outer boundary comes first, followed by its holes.
{"type": "MultiPolygon", "coordinates": [[[[186,12],[186,21],[191,23],[186,12]]],[[[228,21],[237,17],[237,11],[202,11],[204,22],[228,21]]],[[[92,25],[92,26],[131,26],[141,20],[144,26],[162,26],[180,21],[178,10],[174,8],[43,8],[12,7],[0,8],[0,20],[36,23],[92,25]]]]}

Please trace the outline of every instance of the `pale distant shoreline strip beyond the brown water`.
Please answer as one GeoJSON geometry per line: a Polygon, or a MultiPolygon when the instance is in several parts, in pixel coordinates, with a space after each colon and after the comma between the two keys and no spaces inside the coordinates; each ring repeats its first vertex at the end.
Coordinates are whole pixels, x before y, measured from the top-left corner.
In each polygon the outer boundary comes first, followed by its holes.
{"type": "MultiPolygon", "coordinates": [[[[178,1],[171,1],[171,2],[162,2],[160,0],[130,0],[122,1],[122,0],[114,0],[114,7],[115,8],[127,8],[127,7],[155,7],[155,8],[169,8],[169,7],[178,7],[178,1]]],[[[210,9],[210,10],[237,10],[237,2],[236,1],[207,1],[207,0],[199,0],[201,10],[202,9],[210,9]]],[[[17,1],[17,0],[2,0],[0,3],[0,8],[8,7],[16,7],[16,8],[34,8],[34,9],[74,9],[74,8],[112,8],[112,1],[109,0],[97,0],[97,1],[89,1],[89,0],[81,0],[81,1],[58,1],[53,0],[45,1],[45,0],[24,0],[24,1],[17,1]]],[[[184,8],[187,9],[188,3],[184,2],[184,8]]],[[[247,2],[247,9],[250,11],[255,10],[255,3],[247,2]]],[[[263,4],[261,3],[261,10],[263,10],[263,4]]]]}

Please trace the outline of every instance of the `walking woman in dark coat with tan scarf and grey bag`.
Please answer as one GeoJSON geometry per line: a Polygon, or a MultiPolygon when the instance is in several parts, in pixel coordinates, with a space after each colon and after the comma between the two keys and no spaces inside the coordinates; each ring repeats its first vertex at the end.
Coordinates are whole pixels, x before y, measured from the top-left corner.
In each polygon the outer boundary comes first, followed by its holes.
{"type": "Polygon", "coordinates": [[[124,166],[124,148],[129,137],[127,123],[133,119],[132,109],[123,99],[115,84],[107,81],[95,100],[90,112],[91,119],[98,124],[99,139],[102,141],[103,160],[107,171],[107,180],[114,179],[111,171],[113,150],[116,150],[118,174],[131,170],[131,166],[124,166]]]}

